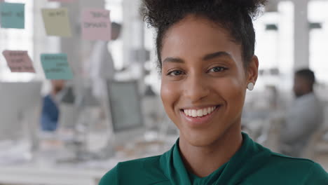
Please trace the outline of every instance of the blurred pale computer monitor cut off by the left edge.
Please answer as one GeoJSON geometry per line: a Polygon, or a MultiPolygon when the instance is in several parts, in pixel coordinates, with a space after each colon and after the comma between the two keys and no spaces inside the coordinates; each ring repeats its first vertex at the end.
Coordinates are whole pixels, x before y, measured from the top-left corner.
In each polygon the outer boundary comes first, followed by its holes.
{"type": "Polygon", "coordinates": [[[0,83],[0,141],[35,137],[41,110],[41,82],[0,83]]]}

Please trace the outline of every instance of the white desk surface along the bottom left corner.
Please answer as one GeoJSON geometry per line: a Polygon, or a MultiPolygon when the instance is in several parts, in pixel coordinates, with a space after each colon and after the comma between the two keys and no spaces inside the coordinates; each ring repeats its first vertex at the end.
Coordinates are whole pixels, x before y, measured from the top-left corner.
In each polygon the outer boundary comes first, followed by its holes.
{"type": "Polygon", "coordinates": [[[34,163],[2,166],[0,184],[97,185],[109,169],[41,167],[34,163]]]}

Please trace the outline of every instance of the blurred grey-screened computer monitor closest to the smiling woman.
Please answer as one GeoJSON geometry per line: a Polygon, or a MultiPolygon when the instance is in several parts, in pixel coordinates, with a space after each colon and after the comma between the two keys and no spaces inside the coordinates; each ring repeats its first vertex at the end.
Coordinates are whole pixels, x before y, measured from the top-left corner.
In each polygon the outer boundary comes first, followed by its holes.
{"type": "Polygon", "coordinates": [[[107,81],[109,122],[116,144],[144,133],[137,81],[107,81]]]}

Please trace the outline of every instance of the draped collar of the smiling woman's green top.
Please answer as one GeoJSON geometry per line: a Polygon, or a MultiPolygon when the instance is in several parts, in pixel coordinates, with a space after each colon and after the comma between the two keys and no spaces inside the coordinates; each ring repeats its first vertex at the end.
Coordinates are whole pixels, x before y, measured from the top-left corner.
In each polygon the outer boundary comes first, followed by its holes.
{"type": "MultiPolygon", "coordinates": [[[[245,177],[264,165],[270,155],[269,149],[253,142],[247,134],[242,133],[242,146],[226,163],[223,172],[219,176],[213,176],[218,178],[215,179],[214,184],[240,183],[245,177]]],[[[160,167],[172,185],[191,185],[188,172],[179,153],[179,139],[170,151],[160,157],[160,167]]]]}

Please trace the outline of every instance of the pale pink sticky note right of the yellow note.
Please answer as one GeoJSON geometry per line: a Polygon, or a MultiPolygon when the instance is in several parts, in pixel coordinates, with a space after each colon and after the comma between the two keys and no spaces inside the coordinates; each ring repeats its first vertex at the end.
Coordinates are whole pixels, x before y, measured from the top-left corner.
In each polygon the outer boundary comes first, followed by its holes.
{"type": "Polygon", "coordinates": [[[109,11],[88,8],[82,12],[82,36],[86,40],[111,40],[109,11]]]}

